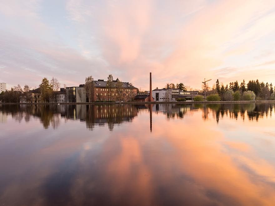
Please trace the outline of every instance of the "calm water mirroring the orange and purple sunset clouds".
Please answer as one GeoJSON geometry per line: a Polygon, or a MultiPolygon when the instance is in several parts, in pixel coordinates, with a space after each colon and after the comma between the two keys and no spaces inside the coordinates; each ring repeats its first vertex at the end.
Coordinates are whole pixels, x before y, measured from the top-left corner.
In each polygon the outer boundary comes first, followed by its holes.
{"type": "Polygon", "coordinates": [[[275,105],[0,105],[0,205],[275,205],[275,105]]]}

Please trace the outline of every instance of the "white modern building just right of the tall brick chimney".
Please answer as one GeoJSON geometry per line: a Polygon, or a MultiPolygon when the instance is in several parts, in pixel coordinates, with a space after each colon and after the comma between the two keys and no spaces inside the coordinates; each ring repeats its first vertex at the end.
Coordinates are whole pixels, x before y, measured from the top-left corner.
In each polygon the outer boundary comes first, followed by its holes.
{"type": "Polygon", "coordinates": [[[174,95],[178,95],[181,90],[179,89],[154,89],[152,91],[152,96],[155,99],[155,101],[176,101],[175,98],[173,98],[174,95]]]}

